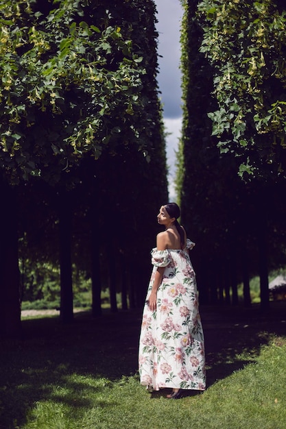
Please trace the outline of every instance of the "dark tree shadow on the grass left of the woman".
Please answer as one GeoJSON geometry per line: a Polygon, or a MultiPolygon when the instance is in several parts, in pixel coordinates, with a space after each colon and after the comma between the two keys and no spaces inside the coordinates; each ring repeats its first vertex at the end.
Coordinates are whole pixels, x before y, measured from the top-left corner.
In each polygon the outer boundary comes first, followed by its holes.
{"type": "Polygon", "coordinates": [[[79,313],[70,325],[62,325],[58,317],[24,320],[23,339],[2,343],[0,429],[24,426],[35,404],[45,400],[66,405],[67,414],[74,410],[79,418],[95,405],[91,393],[101,397],[112,389],[112,381],[133,375],[139,330],[139,322],[133,321],[131,312],[97,319],[79,313]],[[86,376],[94,378],[94,386],[81,381],[86,376]],[[97,386],[97,378],[110,382],[97,386]]]}

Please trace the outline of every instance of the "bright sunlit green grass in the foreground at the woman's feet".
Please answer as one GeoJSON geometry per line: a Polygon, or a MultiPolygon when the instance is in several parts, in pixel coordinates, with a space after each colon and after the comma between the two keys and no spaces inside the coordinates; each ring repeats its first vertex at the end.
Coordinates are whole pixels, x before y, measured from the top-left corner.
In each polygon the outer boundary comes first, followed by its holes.
{"type": "Polygon", "coordinates": [[[264,347],[256,363],[180,401],[150,397],[136,376],[109,382],[72,374],[35,404],[23,427],[284,429],[285,355],[286,343],[264,347]]]}

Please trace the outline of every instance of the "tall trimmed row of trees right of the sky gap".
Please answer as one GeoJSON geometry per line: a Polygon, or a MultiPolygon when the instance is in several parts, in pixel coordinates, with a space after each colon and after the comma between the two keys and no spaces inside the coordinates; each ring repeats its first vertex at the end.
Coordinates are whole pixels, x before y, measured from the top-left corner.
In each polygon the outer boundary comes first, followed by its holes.
{"type": "Polygon", "coordinates": [[[286,8],[183,0],[183,126],[177,186],[197,247],[201,302],[238,303],[285,267],[286,8]]]}

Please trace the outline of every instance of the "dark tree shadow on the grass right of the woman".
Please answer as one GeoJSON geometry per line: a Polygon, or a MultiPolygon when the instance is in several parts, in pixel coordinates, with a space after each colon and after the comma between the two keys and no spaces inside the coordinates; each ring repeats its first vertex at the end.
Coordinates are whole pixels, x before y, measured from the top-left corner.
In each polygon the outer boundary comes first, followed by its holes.
{"type": "Polygon", "coordinates": [[[267,312],[251,308],[206,307],[202,310],[207,386],[255,362],[261,347],[286,334],[286,303],[271,303],[267,312]],[[214,312],[215,310],[215,312],[214,312]]]}

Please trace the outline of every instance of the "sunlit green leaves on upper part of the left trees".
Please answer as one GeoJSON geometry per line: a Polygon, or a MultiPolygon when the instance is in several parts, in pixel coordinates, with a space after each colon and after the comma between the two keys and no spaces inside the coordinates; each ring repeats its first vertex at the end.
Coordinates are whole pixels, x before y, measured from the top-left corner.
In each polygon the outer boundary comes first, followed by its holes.
{"type": "Polygon", "coordinates": [[[12,183],[29,175],[56,182],[82,154],[98,158],[123,127],[123,144],[145,148],[143,57],[132,25],[109,25],[98,6],[98,23],[88,24],[97,4],[87,0],[57,0],[51,10],[0,1],[0,159],[12,183]]]}

